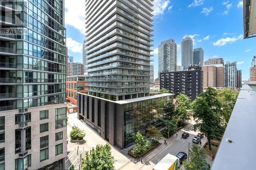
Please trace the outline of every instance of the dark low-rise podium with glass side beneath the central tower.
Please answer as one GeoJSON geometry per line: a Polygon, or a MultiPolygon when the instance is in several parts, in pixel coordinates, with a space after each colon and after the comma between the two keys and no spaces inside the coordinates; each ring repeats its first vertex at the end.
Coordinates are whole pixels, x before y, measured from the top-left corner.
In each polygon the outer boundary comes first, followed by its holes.
{"type": "Polygon", "coordinates": [[[148,125],[158,126],[158,110],[163,101],[173,94],[157,94],[142,98],[111,101],[93,95],[78,93],[78,118],[93,128],[111,145],[127,148],[133,143],[134,134],[145,134],[148,125]]]}

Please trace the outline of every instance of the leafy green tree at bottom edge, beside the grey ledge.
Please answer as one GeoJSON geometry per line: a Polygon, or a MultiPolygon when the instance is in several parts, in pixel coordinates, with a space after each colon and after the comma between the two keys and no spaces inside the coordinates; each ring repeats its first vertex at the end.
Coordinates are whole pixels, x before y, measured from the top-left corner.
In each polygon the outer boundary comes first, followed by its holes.
{"type": "Polygon", "coordinates": [[[199,147],[199,145],[195,144],[189,151],[189,160],[184,161],[184,166],[187,170],[200,170],[202,169],[202,167],[205,168],[206,166],[205,158],[206,152],[204,151],[204,149],[199,147]]]}

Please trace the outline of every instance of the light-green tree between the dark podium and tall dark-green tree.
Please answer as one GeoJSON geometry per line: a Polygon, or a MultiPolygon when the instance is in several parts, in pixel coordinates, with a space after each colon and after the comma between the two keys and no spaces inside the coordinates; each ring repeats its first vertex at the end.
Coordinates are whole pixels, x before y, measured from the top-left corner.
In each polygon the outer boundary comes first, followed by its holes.
{"type": "Polygon", "coordinates": [[[190,109],[190,99],[185,94],[179,94],[176,99],[178,106],[176,107],[174,117],[179,123],[182,123],[189,119],[188,110],[190,109]]]}

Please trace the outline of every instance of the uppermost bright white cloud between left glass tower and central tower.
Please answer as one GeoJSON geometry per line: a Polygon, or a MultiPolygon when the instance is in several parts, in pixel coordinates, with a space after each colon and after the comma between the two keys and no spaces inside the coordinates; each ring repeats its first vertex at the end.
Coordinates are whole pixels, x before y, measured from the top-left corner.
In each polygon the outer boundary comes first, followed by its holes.
{"type": "Polygon", "coordinates": [[[65,24],[73,26],[82,34],[85,34],[84,2],[84,0],[65,1],[65,24]]]}

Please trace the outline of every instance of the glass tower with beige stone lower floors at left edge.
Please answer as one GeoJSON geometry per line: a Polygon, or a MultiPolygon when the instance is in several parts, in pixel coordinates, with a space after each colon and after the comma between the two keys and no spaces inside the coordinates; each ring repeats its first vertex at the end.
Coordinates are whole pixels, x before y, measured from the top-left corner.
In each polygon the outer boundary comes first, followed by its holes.
{"type": "Polygon", "coordinates": [[[66,169],[64,1],[0,5],[0,169],[66,169]]]}

